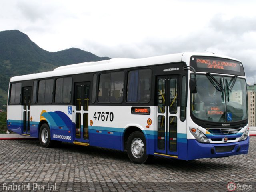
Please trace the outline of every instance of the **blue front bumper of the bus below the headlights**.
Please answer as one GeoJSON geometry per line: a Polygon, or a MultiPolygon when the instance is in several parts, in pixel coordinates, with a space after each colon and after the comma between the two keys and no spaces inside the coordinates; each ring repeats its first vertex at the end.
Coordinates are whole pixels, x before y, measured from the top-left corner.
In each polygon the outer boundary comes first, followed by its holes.
{"type": "Polygon", "coordinates": [[[195,139],[188,139],[188,160],[247,154],[248,148],[249,137],[244,141],[223,144],[200,143],[195,139]]]}

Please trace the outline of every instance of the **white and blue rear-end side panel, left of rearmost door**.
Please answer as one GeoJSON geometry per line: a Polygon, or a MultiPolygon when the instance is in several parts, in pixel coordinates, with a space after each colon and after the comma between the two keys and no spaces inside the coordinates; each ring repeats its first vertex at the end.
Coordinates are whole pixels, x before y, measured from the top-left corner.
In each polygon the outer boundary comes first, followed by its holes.
{"type": "Polygon", "coordinates": [[[22,134],[23,128],[23,117],[22,117],[22,108],[20,105],[8,105],[8,114],[7,114],[7,126],[8,130],[11,130],[15,133],[22,134]]]}

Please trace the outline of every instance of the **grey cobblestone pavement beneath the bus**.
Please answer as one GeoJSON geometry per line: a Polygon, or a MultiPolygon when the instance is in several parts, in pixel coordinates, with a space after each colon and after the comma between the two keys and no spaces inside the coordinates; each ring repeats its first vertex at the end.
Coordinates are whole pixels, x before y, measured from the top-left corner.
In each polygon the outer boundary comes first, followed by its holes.
{"type": "Polygon", "coordinates": [[[146,165],[118,150],[0,140],[0,191],[228,191],[230,182],[236,191],[255,191],[256,137],[248,155],[188,162],[154,157],[146,165]]]}

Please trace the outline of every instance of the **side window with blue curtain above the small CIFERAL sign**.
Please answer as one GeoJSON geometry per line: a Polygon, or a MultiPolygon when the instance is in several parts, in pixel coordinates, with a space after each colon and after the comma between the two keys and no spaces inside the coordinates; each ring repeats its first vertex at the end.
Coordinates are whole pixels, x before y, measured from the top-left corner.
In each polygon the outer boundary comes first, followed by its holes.
{"type": "Polygon", "coordinates": [[[127,102],[150,101],[151,70],[134,70],[128,73],[127,102]]]}

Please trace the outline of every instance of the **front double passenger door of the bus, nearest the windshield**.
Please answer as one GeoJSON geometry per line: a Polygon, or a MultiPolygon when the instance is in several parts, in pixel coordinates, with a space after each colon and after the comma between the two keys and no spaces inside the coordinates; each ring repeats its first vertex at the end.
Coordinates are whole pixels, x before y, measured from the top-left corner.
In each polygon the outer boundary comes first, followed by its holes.
{"type": "Polygon", "coordinates": [[[157,78],[157,153],[178,157],[178,75],[157,78]]]}

